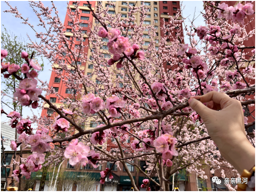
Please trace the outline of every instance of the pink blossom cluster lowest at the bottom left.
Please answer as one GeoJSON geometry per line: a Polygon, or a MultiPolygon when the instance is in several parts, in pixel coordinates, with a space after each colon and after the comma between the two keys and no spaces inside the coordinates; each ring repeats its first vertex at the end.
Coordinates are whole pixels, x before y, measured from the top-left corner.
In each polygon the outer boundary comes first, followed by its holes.
{"type": "Polygon", "coordinates": [[[25,176],[29,179],[32,172],[36,172],[42,169],[42,165],[45,162],[45,155],[34,153],[28,156],[24,164],[20,165],[21,173],[19,170],[13,170],[11,175],[17,182],[21,176],[25,176]]]}

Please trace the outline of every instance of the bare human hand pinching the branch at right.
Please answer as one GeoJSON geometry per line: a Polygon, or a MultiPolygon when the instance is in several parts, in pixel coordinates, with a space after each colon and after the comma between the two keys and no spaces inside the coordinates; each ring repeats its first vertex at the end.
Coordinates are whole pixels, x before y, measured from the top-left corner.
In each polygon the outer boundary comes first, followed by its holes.
{"type": "Polygon", "coordinates": [[[247,166],[250,170],[255,162],[255,148],[246,137],[241,103],[225,93],[211,91],[203,96],[190,97],[189,105],[204,121],[209,136],[216,143],[223,158],[239,173],[248,168],[240,165],[245,164],[246,159],[249,161],[247,166]],[[244,157],[238,158],[243,154],[244,157]],[[253,162],[251,158],[254,159],[253,162]]]}

